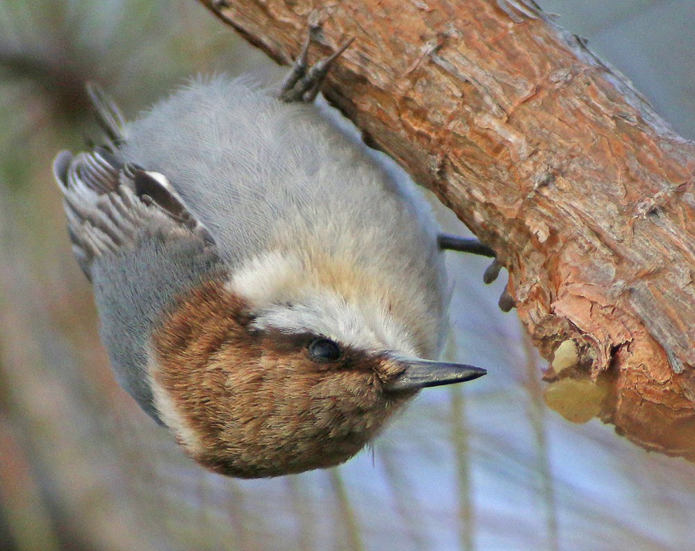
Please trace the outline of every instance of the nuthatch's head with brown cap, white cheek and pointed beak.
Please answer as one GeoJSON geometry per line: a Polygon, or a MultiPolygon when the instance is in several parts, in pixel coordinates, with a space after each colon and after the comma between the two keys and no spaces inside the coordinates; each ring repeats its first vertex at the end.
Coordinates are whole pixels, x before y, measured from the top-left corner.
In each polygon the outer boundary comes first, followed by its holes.
{"type": "Polygon", "coordinates": [[[253,292],[243,275],[193,289],[152,339],[161,419],[217,473],[341,464],[419,389],[485,373],[420,359],[384,308],[377,315],[316,286],[288,293],[252,281],[253,292]]]}

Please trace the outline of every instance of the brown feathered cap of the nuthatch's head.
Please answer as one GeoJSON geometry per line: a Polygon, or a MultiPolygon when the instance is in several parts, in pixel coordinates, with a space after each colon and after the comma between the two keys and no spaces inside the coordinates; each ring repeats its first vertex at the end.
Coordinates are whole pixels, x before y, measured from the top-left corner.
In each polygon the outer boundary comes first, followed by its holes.
{"type": "Polygon", "coordinates": [[[153,336],[158,410],[206,468],[254,478],[340,464],[414,396],[382,391],[403,371],[383,353],[312,359],[315,335],[254,330],[243,302],[202,285],[153,336]]]}

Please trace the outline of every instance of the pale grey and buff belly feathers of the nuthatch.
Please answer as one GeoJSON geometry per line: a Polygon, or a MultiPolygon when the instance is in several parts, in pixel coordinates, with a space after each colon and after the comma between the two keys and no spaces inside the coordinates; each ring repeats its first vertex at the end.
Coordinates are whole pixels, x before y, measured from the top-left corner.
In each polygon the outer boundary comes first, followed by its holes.
{"type": "Polygon", "coordinates": [[[122,158],[169,178],[231,273],[277,251],[300,258],[295,279],[310,285],[322,264],[340,262],[352,275],[333,285],[362,282],[353,296],[412,328],[420,354],[439,354],[448,296],[430,207],[354,131],[316,105],[216,76],[161,101],[128,133],[122,158]]]}

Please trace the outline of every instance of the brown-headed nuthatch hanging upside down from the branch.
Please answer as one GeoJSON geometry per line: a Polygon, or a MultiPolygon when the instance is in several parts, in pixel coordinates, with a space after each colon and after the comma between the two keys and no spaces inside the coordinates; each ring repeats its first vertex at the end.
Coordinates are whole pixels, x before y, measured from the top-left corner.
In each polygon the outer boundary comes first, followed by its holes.
{"type": "Polygon", "coordinates": [[[425,359],[454,245],[313,105],[344,47],[308,47],[279,92],[198,79],[130,124],[92,87],[106,146],[54,162],[118,382],[224,475],[340,464],[419,389],[485,373],[425,359]]]}

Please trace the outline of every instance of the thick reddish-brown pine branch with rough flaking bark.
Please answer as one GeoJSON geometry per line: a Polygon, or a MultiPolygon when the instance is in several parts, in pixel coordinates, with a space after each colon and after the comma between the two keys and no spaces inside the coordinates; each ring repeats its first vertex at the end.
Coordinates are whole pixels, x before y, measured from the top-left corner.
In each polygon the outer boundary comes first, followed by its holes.
{"type": "Polygon", "coordinates": [[[695,146],[533,3],[202,0],[498,251],[548,404],[695,459],[695,146]]]}

